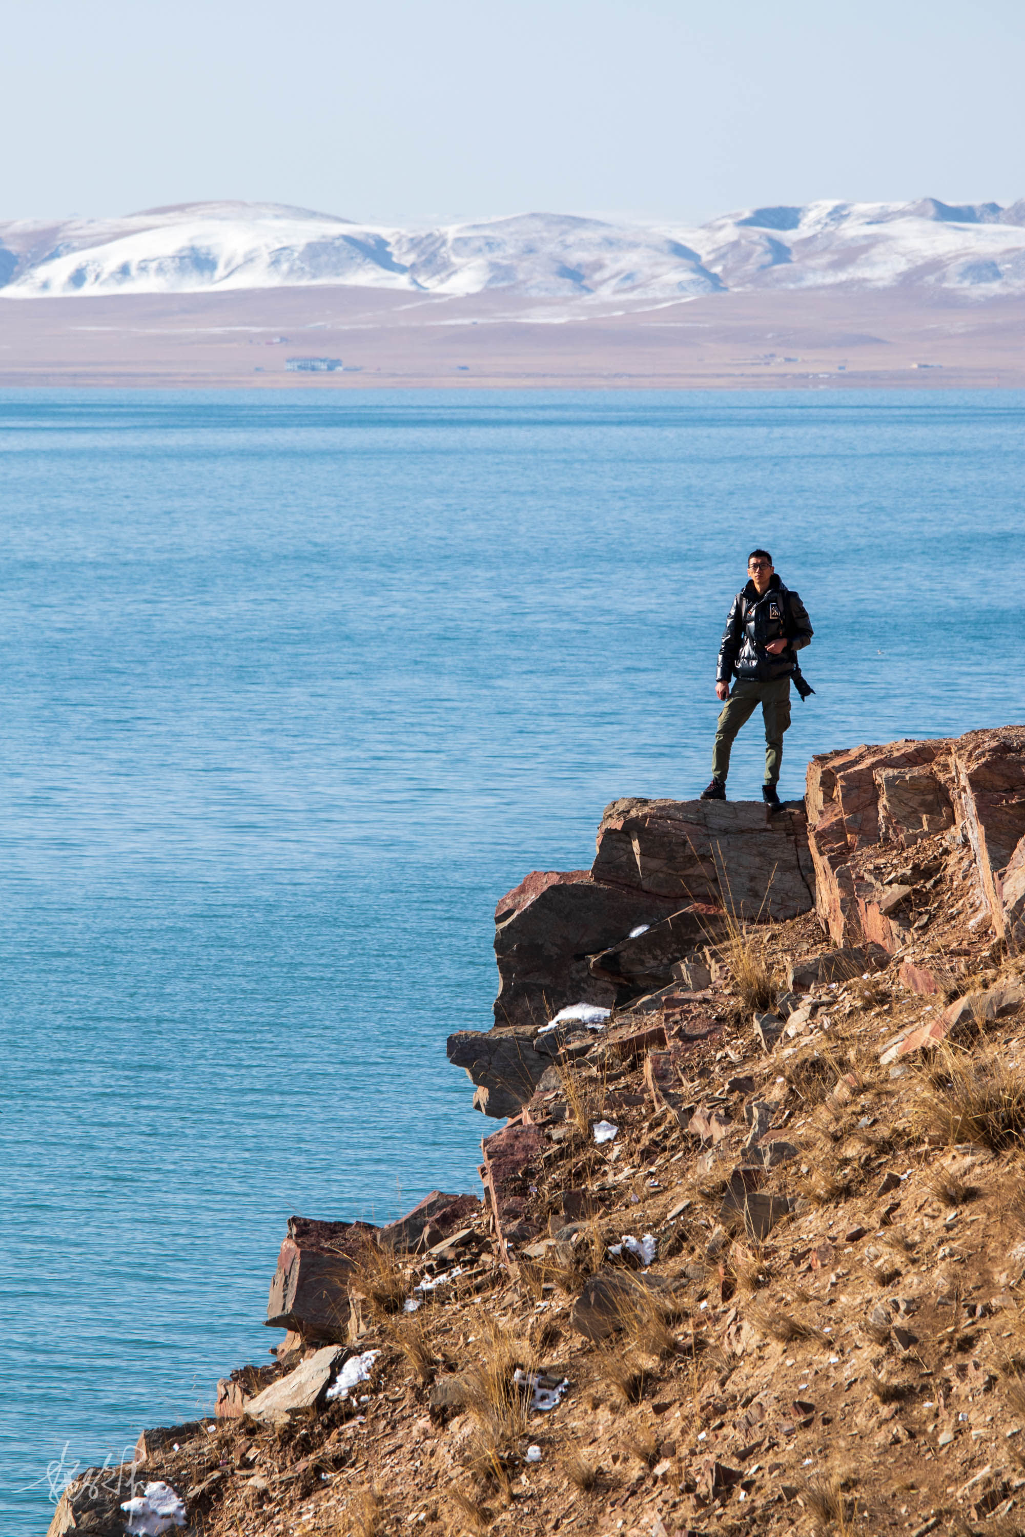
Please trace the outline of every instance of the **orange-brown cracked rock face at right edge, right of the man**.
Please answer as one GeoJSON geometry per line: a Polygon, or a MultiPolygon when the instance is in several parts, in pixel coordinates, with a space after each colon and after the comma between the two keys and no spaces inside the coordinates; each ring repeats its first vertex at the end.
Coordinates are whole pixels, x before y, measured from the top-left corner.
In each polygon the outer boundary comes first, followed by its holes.
{"type": "MultiPolygon", "coordinates": [[[[970,888],[960,902],[950,895],[940,916],[951,927],[970,907],[970,933],[985,927],[1020,951],[1025,727],[813,758],[807,808],[816,910],[836,944],[868,939],[894,954],[933,927],[937,942],[942,924],[928,893],[948,884],[945,861],[960,845],[970,888]],[[907,851],[901,871],[891,868],[894,851],[907,851]]],[[[951,953],[956,939],[951,927],[951,953]]]]}

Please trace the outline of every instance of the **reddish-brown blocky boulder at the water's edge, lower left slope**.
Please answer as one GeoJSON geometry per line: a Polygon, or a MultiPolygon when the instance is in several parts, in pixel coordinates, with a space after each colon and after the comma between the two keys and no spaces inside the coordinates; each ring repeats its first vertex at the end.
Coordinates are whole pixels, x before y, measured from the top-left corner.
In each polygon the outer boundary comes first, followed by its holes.
{"type": "Polygon", "coordinates": [[[317,1222],[289,1217],[289,1233],[270,1282],[264,1323],[304,1339],[346,1339],[349,1288],[360,1247],[378,1234],[369,1222],[317,1222]]]}

